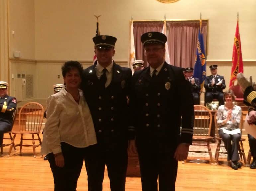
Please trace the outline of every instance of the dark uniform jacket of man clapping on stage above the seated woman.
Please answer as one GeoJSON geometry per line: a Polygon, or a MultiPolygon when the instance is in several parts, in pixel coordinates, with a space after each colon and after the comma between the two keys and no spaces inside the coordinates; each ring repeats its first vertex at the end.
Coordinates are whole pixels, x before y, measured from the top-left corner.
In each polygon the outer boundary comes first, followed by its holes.
{"type": "Polygon", "coordinates": [[[224,76],[217,75],[215,78],[215,84],[213,86],[211,86],[212,79],[213,79],[212,75],[206,76],[205,83],[204,83],[205,91],[212,92],[213,94],[218,94],[218,92],[223,92],[223,89],[226,88],[224,76]],[[222,80],[222,84],[220,86],[216,85],[220,80],[222,80]]]}

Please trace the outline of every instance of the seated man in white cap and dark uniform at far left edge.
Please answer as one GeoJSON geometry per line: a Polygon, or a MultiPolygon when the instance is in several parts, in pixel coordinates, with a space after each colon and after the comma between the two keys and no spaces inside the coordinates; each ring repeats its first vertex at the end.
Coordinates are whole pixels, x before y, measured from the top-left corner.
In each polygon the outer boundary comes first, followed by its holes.
{"type": "Polygon", "coordinates": [[[13,112],[16,109],[16,98],[7,95],[8,83],[0,82],[0,147],[3,144],[4,133],[11,131],[13,112]]]}

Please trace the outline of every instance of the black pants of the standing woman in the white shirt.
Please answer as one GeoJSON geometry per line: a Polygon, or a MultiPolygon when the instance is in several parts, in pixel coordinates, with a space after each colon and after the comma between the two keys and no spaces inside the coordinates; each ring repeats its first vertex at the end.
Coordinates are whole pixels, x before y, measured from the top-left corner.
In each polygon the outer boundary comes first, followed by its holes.
{"type": "Polygon", "coordinates": [[[54,178],[54,191],[75,191],[77,180],[83,166],[86,148],[73,147],[67,143],[61,143],[64,156],[64,167],[55,165],[53,153],[48,154],[51,171],[54,178]]]}

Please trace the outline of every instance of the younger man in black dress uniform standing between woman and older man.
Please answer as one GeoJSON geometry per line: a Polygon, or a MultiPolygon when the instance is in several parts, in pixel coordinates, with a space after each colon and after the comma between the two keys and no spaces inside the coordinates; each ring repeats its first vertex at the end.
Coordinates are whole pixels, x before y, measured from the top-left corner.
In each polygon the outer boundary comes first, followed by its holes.
{"type": "Polygon", "coordinates": [[[91,110],[97,144],[85,156],[88,190],[102,191],[107,165],[111,191],[124,191],[127,169],[128,104],[131,69],[117,65],[116,38],[93,38],[97,61],[84,70],[83,91],[91,110]]]}

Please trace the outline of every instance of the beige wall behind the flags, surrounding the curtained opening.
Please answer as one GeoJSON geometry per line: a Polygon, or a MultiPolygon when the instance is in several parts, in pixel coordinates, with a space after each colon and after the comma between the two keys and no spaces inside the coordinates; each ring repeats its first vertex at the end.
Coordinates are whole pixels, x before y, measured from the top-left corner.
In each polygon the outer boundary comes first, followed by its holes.
{"type": "Polygon", "coordinates": [[[255,0],[179,0],[171,4],[157,0],[9,0],[10,52],[19,50],[22,58],[37,60],[33,67],[11,63],[11,73],[16,72],[15,67],[23,73],[34,72],[35,98],[46,99],[52,85],[62,82],[63,61],[80,60],[84,67],[91,64],[96,29],[93,15],[102,15],[101,34],[118,38],[114,59],[125,66],[131,16],[135,20],[164,19],[164,14],[166,19],[199,19],[202,12],[202,18],[209,19],[207,65],[217,63],[218,73],[228,84],[239,11],[244,73],[256,77],[255,8],[255,0]]]}

